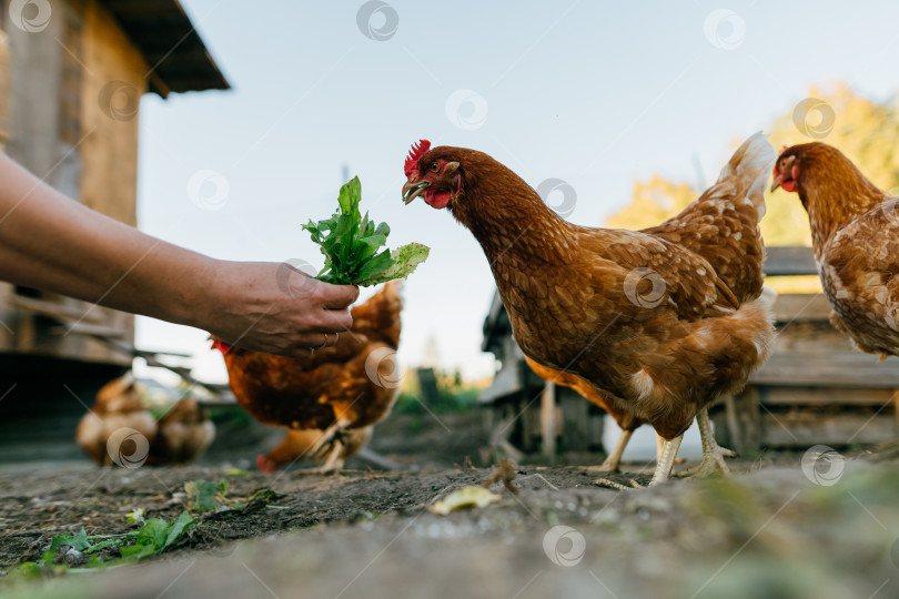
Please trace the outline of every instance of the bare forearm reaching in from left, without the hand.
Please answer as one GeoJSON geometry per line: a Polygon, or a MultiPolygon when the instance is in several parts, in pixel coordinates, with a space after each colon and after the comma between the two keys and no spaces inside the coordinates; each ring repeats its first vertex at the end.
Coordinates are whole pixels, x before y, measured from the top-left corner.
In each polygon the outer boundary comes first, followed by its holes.
{"type": "Polygon", "coordinates": [[[201,326],[215,262],[42,184],[0,154],[0,278],[201,326]]]}

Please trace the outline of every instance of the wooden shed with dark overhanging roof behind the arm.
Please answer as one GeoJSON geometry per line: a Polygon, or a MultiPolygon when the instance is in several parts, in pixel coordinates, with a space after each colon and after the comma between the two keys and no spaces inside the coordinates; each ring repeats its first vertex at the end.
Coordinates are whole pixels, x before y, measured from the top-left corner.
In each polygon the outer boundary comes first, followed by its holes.
{"type": "MultiPolygon", "coordinates": [[[[0,0],[0,144],[121,222],[137,224],[141,97],[228,88],[178,0],[0,0]]],[[[0,373],[130,365],[89,335],[130,343],[133,317],[0,283],[0,373]]]]}

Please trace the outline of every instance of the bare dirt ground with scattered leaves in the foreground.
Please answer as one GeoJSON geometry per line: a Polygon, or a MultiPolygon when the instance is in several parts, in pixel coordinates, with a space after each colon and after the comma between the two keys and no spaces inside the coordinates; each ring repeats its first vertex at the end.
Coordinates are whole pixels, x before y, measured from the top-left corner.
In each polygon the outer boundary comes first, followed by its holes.
{"type": "MultiPolygon", "coordinates": [[[[451,429],[465,429],[453,418],[466,416],[446,418],[451,429]]],[[[408,418],[397,423],[417,428],[408,418]]],[[[493,468],[468,465],[489,458],[471,450],[481,440],[408,435],[406,445],[432,451],[417,471],[267,476],[214,463],[0,468],[3,573],[38,559],[55,535],[82,526],[89,535],[133,529],[125,515],[138,507],[174,519],[186,481],[228,480],[230,497],[276,491],[242,510],[200,516],[173,550],[147,562],[93,572],[75,567],[37,581],[12,573],[0,579],[0,595],[899,596],[899,445],[835,454],[817,468],[806,464],[806,471],[801,453],[737,459],[726,479],[625,491],[595,485],[596,475],[579,467],[524,465],[516,468],[517,495],[496,484],[502,499],[494,505],[432,514],[436,499],[491,476],[493,468]]],[[[392,435],[375,447],[402,461],[414,455],[403,444],[392,435]]]]}

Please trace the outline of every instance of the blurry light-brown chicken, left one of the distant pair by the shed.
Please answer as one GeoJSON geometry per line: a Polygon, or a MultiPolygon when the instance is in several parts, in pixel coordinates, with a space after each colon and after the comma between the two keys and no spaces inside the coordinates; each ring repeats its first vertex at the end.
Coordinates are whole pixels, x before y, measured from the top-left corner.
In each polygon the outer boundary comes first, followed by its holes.
{"type": "MultiPolygon", "coordinates": [[[[97,464],[113,464],[107,443],[117,430],[130,428],[140,433],[149,443],[155,439],[156,419],[144,406],[145,393],[145,387],[131,373],[107,383],[97,392],[93,407],[81,417],[75,429],[75,443],[97,464]]],[[[147,456],[135,457],[142,460],[147,456]]]]}

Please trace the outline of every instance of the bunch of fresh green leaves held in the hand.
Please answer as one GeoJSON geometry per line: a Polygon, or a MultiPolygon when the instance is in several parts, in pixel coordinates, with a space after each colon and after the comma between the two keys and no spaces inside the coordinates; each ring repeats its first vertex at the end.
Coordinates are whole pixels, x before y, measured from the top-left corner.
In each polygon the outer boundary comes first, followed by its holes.
{"type": "Polygon", "coordinates": [[[375,225],[358,210],[362,184],[357,176],[341,187],[340,209],[324,221],[303,225],[312,241],[321,246],[325,256],[320,281],[336,285],[377,285],[394,278],[405,278],[427,258],[430,248],[410,243],[391,252],[382,250],[387,243],[391,227],[375,225]]]}

